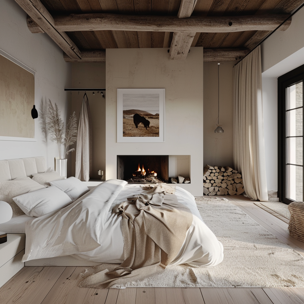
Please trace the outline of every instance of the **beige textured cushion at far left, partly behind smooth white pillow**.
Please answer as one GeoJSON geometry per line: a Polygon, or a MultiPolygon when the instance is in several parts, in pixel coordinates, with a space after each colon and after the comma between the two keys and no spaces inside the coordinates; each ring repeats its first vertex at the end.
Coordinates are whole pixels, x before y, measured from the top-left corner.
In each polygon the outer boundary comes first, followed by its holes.
{"type": "Polygon", "coordinates": [[[9,203],[13,209],[13,216],[19,216],[24,214],[24,212],[16,205],[13,197],[42,188],[44,188],[44,186],[26,176],[15,178],[12,181],[1,181],[0,201],[9,203]]]}

